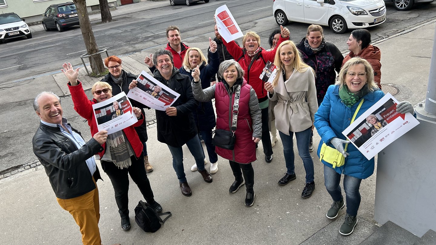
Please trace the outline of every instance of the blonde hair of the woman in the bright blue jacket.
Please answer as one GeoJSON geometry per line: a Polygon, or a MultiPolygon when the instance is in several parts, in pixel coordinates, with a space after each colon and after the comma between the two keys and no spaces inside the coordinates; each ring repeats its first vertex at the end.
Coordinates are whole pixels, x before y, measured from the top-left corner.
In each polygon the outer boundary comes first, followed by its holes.
{"type": "Polygon", "coordinates": [[[378,90],[377,84],[374,82],[374,70],[372,69],[371,64],[365,59],[362,59],[360,57],[354,57],[349,59],[345,64],[342,66],[341,71],[339,71],[339,79],[335,82],[335,85],[339,85],[339,89],[342,88],[345,84],[345,76],[347,75],[348,69],[350,69],[351,66],[362,64],[365,67],[366,72],[366,82],[368,84],[368,90],[370,92],[373,92],[374,90],[378,90]]]}

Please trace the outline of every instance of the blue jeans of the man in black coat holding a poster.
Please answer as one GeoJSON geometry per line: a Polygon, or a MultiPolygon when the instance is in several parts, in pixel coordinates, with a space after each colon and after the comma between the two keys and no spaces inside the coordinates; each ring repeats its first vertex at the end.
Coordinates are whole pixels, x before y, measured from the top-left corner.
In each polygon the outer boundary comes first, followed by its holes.
{"type": "MultiPolygon", "coordinates": [[[[204,170],[204,152],[203,147],[201,147],[200,139],[198,139],[198,135],[196,134],[191,140],[188,140],[186,146],[194,157],[198,170],[204,170]]],[[[183,168],[182,147],[168,146],[168,148],[170,148],[171,155],[173,155],[173,167],[176,171],[177,178],[180,183],[186,182],[186,175],[183,168]]]]}

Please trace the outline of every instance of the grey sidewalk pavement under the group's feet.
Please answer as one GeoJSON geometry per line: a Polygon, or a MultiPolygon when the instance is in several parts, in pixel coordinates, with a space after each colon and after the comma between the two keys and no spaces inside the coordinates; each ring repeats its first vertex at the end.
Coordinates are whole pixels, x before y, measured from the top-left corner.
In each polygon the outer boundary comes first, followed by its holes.
{"type": "MultiPolygon", "coordinates": [[[[382,51],[382,83],[401,90],[395,96],[399,101],[409,100],[416,104],[425,99],[434,30],[435,22],[432,21],[375,44],[382,51]]],[[[71,97],[64,97],[62,105],[70,115],[74,114],[71,97]]],[[[76,124],[81,122],[78,119],[75,121],[76,124]]],[[[86,128],[86,125],[83,127],[86,128]]],[[[82,130],[82,134],[85,139],[90,138],[89,130],[82,130]]],[[[132,229],[122,231],[112,184],[103,174],[105,181],[99,181],[98,186],[100,233],[104,244],[354,245],[364,241],[378,228],[373,218],[376,173],[362,181],[358,224],[352,235],[344,237],[338,233],[345,209],[340,211],[336,220],[325,217],[332,201],[325,190],[323,165],[316,154],[320,140],[316,133],[315,150],[311,153],[316,183],[313,196],[308,199],[300,197],[305,172],[298,154],[295,158],[297,179],[286,186],[277,184],[286,172],[283,146],[279,140],[273,148],[272,163],[265,162],[261,144],[257,149],[258,160],[253,163],[256,199],[252,207],[244,206],[244,187],[235,194],[228,192],[234,177],[227,160],[219,158],[218,173],[208,184],[201,180],[199,173],[190,171],[194,160],[186,147],[183,147],[184,167],[193,195],[184,197],[167,146],[157,141],[156,128],[150,128],[148,134],[147,150],[154,166],[154,171],[148,174],[150,183],[156,200],[162,204],[164,211],[171,211],[173,216],[156,233],[140,230],[134,224],[133,209],[143,197],[131,182],[129,207],[132,229]]],[[[206,167],[209,169],[210,164],[206,167]]],[[[0,196],[0,243],[80,244],[78,227],[71,215],[57,204],[43,167],[0,179],[0,196]]],[[[404,241],[403,244],[412,243],[404,241]]]]}

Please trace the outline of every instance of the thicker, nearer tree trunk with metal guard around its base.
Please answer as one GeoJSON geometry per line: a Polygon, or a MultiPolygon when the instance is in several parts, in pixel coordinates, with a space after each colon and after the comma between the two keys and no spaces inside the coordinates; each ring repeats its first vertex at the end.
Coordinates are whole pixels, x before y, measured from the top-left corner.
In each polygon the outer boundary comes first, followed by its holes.
{"type": "MultiPolygon", "coordinates": [[[[94,33],[92,32],[91,21],[89,20],[88,10],[86,9],[86,0],[73,0],[76,5],[80,30],[82,31],[83,41],[85,42],[86,51],[88,54],[95,54],[99,51],[97,43],[95,42],[94,33]]],[[[89,57],[92,72],[99,74],[105,70],[103,65],[102,56],[100,54],[89,57]],[[92,62],[92,58],[95,61],[92,62]]]]}

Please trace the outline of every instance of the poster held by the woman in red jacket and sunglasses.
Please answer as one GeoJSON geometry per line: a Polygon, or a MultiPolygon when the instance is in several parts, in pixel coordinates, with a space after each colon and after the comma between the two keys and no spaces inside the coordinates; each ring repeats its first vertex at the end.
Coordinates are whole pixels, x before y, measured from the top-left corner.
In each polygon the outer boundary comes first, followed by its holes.
{"type": "Polygon", "coordinates": [[[138,119],[133,113],[132,104],[124,92],[110,99],[92,105],[97,128],[108,131],[108,134],[132,126],[138,119]]]}

